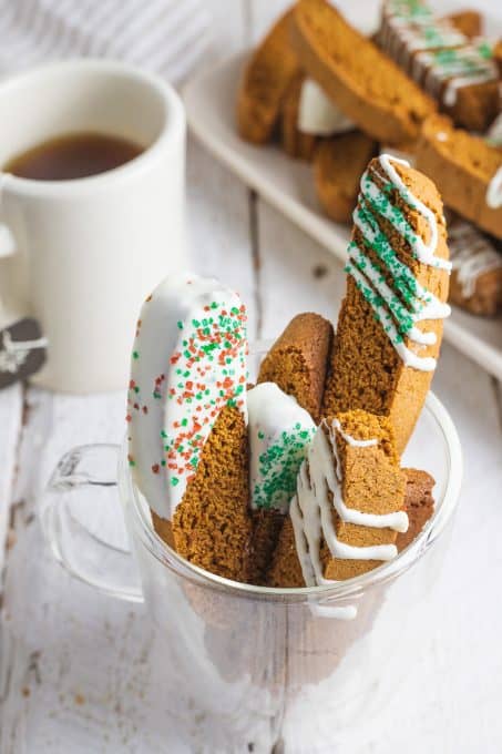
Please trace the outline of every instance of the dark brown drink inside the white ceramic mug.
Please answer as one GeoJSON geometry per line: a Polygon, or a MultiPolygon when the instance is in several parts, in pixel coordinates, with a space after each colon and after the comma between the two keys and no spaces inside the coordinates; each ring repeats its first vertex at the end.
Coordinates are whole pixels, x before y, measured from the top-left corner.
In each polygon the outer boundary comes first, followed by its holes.
{"type": "Polygon", "coordinates": [[[142,146],[120,136],[72,133],[18,154],[2,170],[35,181],[71,181],[120,167],[142,152],[142,146]]]}

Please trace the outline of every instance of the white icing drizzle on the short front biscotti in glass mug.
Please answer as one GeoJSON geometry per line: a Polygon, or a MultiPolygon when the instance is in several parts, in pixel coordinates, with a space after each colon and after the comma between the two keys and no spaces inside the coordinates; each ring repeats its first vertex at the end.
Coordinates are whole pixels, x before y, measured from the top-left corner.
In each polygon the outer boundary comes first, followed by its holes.
{"type": "MultiPolygon", "coordinates": [[[[303,462],[298,475],[297,493],[291,500],[289,514],[295,532],[295,544],[305,583],[308,587],[330,583],[322,575],[320,561],[321,541],[326,541],[334,558],[350,560],[391,560],[397,556],[395,544],[357,547],[341,542],[336,534],[332,511],[337,511],[346,523],[370,528],[389,528],[407,531],[409,521],[404,511],[392,513],[366,513],[348,508],[342,499],[341,465],[337,450],[339,422],[331,427],[326,420],[318,428],[308,458],[303,462]],[[332,496],[332,502],[329,499],[332,496]]],[[[342,430],[341,430],[342,431],[342,430]]],[[[341,435],[345,441],[346,434],[341,435]]],[[[355,440],[357,447],[368,448],[378,445],[376,440],[355,440]],[[363,442],[365,445],[359,445],[363,442]],[[371,445],[367,445],[370,442],[371,445]]]]}

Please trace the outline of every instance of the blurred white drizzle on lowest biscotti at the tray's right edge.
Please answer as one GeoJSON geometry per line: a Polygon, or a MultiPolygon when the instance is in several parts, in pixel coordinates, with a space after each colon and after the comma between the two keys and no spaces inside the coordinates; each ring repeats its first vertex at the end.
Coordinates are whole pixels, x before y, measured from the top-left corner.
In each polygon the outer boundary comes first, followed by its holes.
{"type": "Polygon", "coordinates": [[[471,223],[459,222],[450,226],[448,241],[453,271],[464,298],[474,295],[481,275],[493,269],[502,271],[502,255],[471,223]]]}

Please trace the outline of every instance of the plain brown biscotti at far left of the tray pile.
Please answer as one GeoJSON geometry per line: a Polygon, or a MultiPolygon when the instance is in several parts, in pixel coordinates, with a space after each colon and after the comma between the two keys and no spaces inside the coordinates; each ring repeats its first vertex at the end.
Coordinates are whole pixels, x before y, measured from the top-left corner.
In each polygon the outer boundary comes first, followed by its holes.
{"type": "Polygon", "coordinates": [[[237,93],[237,129],[243,139],[264,144],[274,134],[280,106],[299,68],[289,42],[291,11],[270,29],[247,62],[237,93]]]}

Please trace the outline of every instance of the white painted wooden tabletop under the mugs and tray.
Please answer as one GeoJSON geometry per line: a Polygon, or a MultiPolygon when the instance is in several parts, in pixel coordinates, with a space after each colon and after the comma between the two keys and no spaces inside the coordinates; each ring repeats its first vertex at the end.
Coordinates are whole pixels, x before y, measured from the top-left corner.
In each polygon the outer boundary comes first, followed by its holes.
{"type": "MultiPolygon", "coordinates": [[[[285,3],[208,4],[216,59],[249,44],[285,3]]],[[[339,263],[193,141],[187,185],[194,267],[240,291],[250,337],[274,336],[298,310],[336,316],[339,263]]],[[[502,752],[502,388],[444,346],[434,390],[459,428],[465,480],[431,605],[433,642],[417,646],[417,669],[357,754],[502,752]]],[[[143,607],[72,581],[37,518],[59,457],[123,431],[124,395],[0,393],[1,754],[188,751],[148,685],[143,607]]]]}

